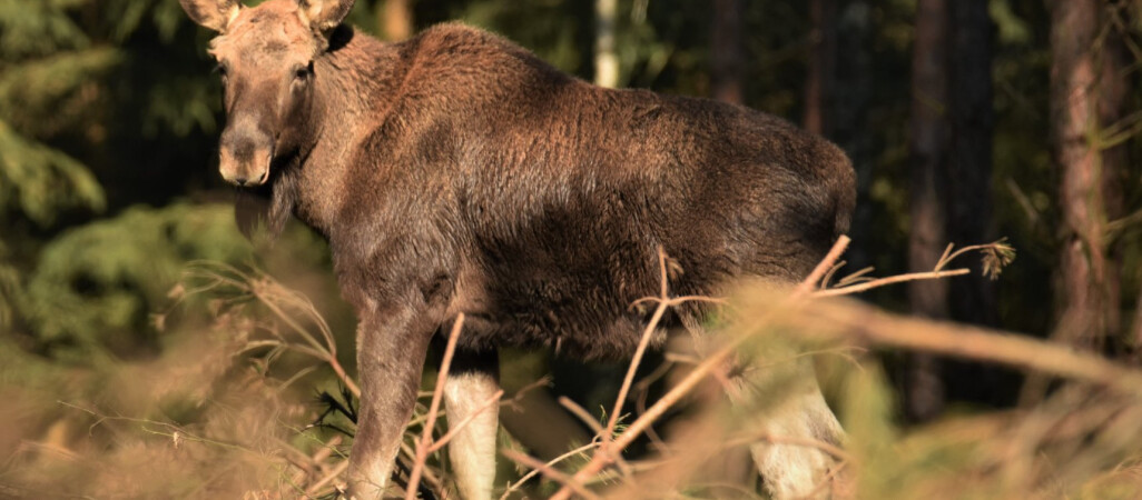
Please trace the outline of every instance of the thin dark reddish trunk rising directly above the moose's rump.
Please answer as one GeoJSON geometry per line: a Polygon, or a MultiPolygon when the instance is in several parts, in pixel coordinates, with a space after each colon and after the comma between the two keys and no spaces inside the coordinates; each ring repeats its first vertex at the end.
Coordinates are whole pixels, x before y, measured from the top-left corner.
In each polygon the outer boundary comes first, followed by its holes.
{"type": "Polygon", "coordinates": [[[810,0],[809,72],[805,75],[805,130],[831,137],[833,84],[836,82],[837,2],[810,0]]]}

